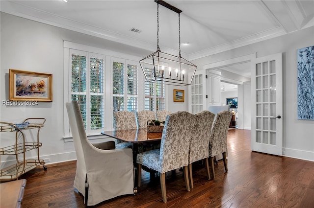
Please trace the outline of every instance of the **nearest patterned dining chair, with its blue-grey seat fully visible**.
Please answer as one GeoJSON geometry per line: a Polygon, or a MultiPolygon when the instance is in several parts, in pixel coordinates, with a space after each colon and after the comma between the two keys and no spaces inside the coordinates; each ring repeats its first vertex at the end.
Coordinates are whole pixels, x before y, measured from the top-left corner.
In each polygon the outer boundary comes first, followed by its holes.
{"type": "Polygon", "coordinates": [[[167,202],[165,173],[183,167],[186,190],[188,183],[188,152],[194,115],[185,111],[170,114],[166,118],[162,132],[160,150],[150,150],[137,155],[138,186],[141,182],[142,165],[160,173],[160,185],[163,202],[167,202]]]}

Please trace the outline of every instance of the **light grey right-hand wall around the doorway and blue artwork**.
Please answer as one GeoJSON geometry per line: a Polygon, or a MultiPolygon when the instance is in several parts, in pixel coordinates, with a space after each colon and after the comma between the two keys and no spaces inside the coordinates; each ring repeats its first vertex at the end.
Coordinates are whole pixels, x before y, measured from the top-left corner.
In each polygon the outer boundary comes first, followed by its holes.
{"type": "MultiPolygon", "coordinates": [[[[283,151],[292,158],[314,161],[314,120],[297,119],[297,49],[314,45],[314,27],[284,36],[242,46],[233,50],[193,60],[200,67],[209,63],[257,53],[257,58],[283,53],[283,151]]],[[[244,85],[244,100],[250,101],[249,84],[244,85]]],[[[248,106],[244,106],[247,108],[248,106]]],[[[251,116],[244,116],[250,119],[251,116]]],[[[244,124],[244,128],[248,128],[244,124]]]]}

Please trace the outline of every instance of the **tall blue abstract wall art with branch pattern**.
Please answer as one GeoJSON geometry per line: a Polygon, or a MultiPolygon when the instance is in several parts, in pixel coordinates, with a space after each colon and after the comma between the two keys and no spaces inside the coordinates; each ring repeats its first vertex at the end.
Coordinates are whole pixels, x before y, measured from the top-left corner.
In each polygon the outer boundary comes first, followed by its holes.
{"type": "Polygon", "coordinates": [[[298,119],[314,120],[314,46],[297,51],[298,119]]]}

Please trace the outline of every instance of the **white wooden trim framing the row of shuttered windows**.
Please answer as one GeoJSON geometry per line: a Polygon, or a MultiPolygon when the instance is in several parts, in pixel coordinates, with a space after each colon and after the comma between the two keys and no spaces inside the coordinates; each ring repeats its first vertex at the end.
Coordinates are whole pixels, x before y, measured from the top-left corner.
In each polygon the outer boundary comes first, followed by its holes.
{"type": "MultiPolygon", "coordinates": [[[[104,112],[105,112],[105,120],[104,120],[104,125],[105,129],[102,131],[110,131],[113,130],[113,111],[112,111],[112,60],[115,59],[115,57],[119,57],[121,59],[125,59],[127,64],[134,64],[137,65],[138,68],[138,81],[137,81],[137,86],[138,86],[138,91],[137,91],[137,105],[138,109],[137,111],[142,111],[144,110],[144,103],[145,103],[145,95],[144,95],[144,83],[145,83],[145,76],[144,73],[142,72],[138,60],[141,60],[142,57],[138,56],[133,56],[130,54],[125,54],[125,53],[120,53],[112,50],[107,50],[104,48],[98,48],[98,47],[93,47],[93,46],[86,46],[83,44],[78,44],[78,43],[73,43],[70,41],[63,41],[63,47],[64,47],[64,96],[63,100],[64,103],[70,102],[71,101],[71,82],[70,82],[70,74],[71,74],[71,66],[72,63],[69,59],[70,57],[70,49],[75,49],[75,50],[81,50],[81,51],[86,51],[86,52],[91,52],[91,53],[96,53],[96,54],[102,54],[105,56],[104,59],[104,69],[105,69],[105,90],[104,90],[104,112]]],[[[127,66],[127,65],[126,65],[127,66]]],[[[165,109],[167,109],[167,85],[165,85],[165,109]]],[[[64,133],[63,133],[63,138],[64,141],[71,141],[72,140],[72,135],[70,131],[70,124],[69,124],[69,118],[67,114],[67,109],[64,104],[63,106],[63,117],[64,117],[64,133]]],[[[102,138],[103,136],[100,133],[93,133],[93,134],[88,134],[87,135],[89,139],[98,139],[102,138]]]]}

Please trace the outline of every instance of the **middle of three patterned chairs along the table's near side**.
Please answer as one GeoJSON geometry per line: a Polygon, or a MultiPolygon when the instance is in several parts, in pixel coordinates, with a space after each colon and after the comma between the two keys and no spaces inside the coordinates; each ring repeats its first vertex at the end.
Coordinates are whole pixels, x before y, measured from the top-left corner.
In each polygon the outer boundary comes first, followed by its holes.
{"type": "Polygon", "coordinates": [[[190,141],[189,157],[188,157],[188,173],[191,188],[193,188],[192,163],[205,159],[205,167],[209,174],[209,137],[214,120],[214,114],[209,111],[202,111],[194,115],[194,126],[190,141]]]}

